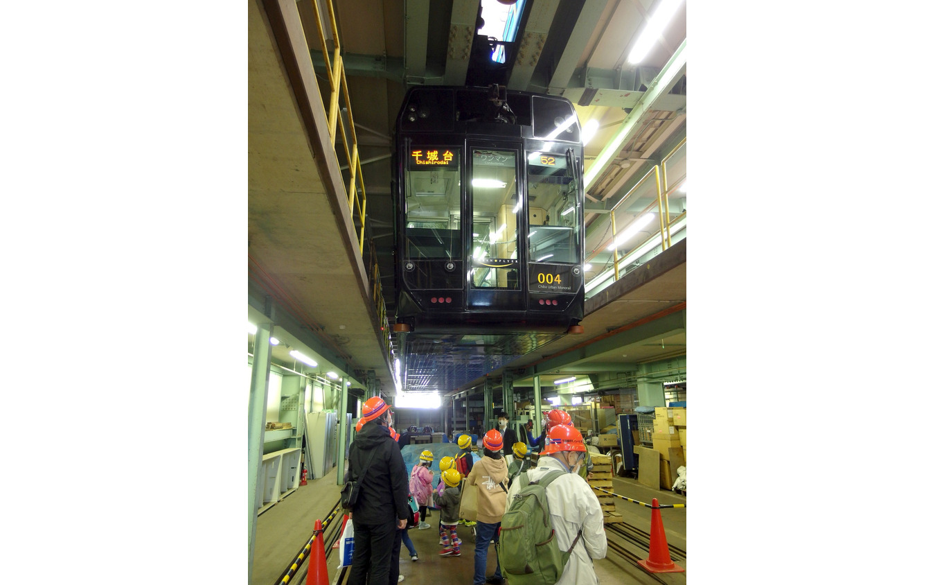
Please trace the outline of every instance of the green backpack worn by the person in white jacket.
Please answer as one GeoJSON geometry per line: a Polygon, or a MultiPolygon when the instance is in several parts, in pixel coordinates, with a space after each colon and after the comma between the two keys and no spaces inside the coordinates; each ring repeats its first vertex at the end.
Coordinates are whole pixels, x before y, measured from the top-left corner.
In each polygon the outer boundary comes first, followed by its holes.
{"type": "Polygon", "coordinates": [[[562,577],[571,549],[581,538],[579,532],[568,551],[558,548],[555,542],[545,488],[563,473],[556,470],[538,482],[530,482],[526,474],[519,475],[520,492],[500,520],[497,551],[500,571],[510,585],[553,585],[562,577]]]}

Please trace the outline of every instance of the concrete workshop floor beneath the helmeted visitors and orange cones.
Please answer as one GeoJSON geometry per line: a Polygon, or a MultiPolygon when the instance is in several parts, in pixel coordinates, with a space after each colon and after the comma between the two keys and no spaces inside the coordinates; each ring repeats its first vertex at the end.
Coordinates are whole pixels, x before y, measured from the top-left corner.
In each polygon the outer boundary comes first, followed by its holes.
{"type": "MultiPolygon", "coordinates": [[[[305,546],[311,537],[315,519],[325,519],[338,501],[340,489],[336,483],[334,471],[321,479],[309,481],[309,485],[300,487],[287,496],[278,505],[274,505],[259,516],[256,526],[252,578],[250,585],[276,585],[277,579],[288,568],[295,554],[305,546]]],[[[671,491],[646,488],[635,479],[615,477],[616,493],[629,498],[650,503],[657,498],[660,504],[684,504],[685,498],[671,491]]],[[[641,505],[617,501],[617,512],[626,522],[649,532],[652,511],[641,505]]],[[[662,510],[663,524],[669,544],[686,549],[685,546],[686,508],[662,510]]],[[[399,574],[404,582],[411,585],[439,585],[452,583],[469,585],[474,572],[473,537],[469,529],[466,534],[459,533],[464,543],[462,556],[456,558],[439,557],[439,512],[433,511],[427,519],[432,527],[428,530],[410,530],[410,537],[419,553],[419,561],[410,561],[406,547],[400,551],[399,574]]],[[[338,517],[337,521],[340,521],[338,517]]],[[[326,550],[328,560],[328,579],[334,582],[338,575],[337,551],[326,550]]],[[[299,575],[306,571],[305,563],[298,570],[299,575]]],[[[680,565],[687,569],[683,562],[680,565]]],[[[491,575],[496,567],[494,548],[488,549],[487,574],[491,575]]],[[[608,557],[595,562],[597,578],[607,585],[611,583],[654,583],[654,579],[640,568],[627,563],[613,551],[608,550],[608,557]]],[[[666,582],[682,584],[685,573],[661,575],[666,582]]],[[[295,582],[295,581],[294,581],[295,582]]],[[[300,581],[305,583],[304,578],[300,581]]]]}

